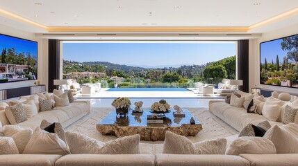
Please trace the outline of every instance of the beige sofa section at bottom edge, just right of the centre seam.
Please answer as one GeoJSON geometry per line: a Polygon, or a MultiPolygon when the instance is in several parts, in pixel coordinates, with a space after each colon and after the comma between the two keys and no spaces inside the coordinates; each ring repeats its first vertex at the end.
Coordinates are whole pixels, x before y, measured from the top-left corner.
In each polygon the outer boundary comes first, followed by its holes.
{"type": "Polygon", "coordinates": [[[248,160],[231,155],[156,154],[160,166],[249,166],[248,160]]]}

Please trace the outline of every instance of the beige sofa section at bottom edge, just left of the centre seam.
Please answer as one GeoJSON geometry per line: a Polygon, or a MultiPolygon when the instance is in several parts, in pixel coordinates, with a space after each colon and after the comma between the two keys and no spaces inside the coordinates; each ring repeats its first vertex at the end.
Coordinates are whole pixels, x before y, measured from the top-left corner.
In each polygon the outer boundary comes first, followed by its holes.
{"type": "Polygon", "coordinates": [[[56,166],[154,166],[150,154],[70,154],[57,160],[56,166]]]}

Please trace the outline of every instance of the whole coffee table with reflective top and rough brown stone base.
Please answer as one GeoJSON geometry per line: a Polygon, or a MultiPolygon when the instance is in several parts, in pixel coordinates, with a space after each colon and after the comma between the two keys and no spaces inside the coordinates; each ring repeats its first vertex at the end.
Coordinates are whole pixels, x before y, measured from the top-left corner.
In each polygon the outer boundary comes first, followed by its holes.
{"type": "Polygon", "coordinates": [[[193,117],[195,124],[190,124],[192,114],[187,109],[183,109],[183,112],[185,117],[175,118],[171,111],[165,113],[163,124],[147,124],[147,115],[152,114],[149,109],[144,109],[140,115],[132,115],[132,110],[129,110],[126,117],[116,116],[114,110],[97,123],[97,131],[117,137],[140,134],[141,140],[165,140],[166,131],[181,136],[196,136],[202,129],[201,123],[193,117]]]}

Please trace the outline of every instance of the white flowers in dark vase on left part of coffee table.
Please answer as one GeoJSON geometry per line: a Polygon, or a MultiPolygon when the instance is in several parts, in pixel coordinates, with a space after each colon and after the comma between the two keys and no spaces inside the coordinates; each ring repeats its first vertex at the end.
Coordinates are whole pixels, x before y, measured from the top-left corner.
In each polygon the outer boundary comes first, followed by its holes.
{"type": "Polygon", "coordinates": [[[129,107],[131,106],[131,100],[129,98],[115,98],[112,102],[112,106],[115,107],[117,115],[124,115],[129,113],[129,107]]]}

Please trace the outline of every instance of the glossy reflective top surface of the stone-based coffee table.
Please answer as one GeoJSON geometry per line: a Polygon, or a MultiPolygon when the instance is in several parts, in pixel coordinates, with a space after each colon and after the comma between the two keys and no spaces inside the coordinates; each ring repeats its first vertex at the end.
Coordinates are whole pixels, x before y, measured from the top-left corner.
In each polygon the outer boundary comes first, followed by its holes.
{"type": "Polygon", "coordinates": [[[129,109],[129,113],[126,116],[116,115],[116,111],[111,111],[106,118],[101,120],[98,125],[101,124],[117,124],[118,126],[129,126],[129,127],[180,127],[181,124],[190,124],[190,118],[194,119],[195,124],[200,124],[197,121],[190,111],[187,109],[182,109],[183,113],[185,113],[185,117],[174,117],[173,112],[176,110],[171,110],[169,113],[165,113],[165,120],[163,124],[147,124],[147,116],[152,115],[150,109],[144,109],[143,113],[132,114],[133,110],[129,109]]]}

